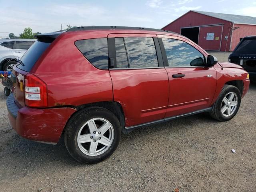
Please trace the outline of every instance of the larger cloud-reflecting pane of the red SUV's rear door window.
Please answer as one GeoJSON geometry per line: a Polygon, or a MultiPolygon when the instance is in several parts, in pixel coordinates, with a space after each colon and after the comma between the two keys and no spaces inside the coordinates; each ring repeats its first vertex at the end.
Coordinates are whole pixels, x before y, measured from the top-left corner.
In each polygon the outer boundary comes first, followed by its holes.
{"type": "Polygon", "coordinates": [[[151,37],[125,37],[130,68],[158,67],[156,48],[151,37]]]}

